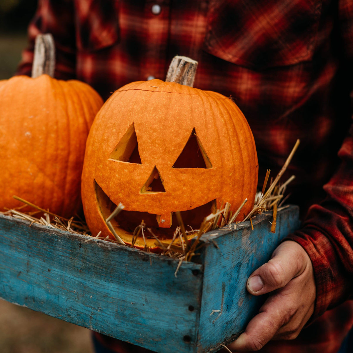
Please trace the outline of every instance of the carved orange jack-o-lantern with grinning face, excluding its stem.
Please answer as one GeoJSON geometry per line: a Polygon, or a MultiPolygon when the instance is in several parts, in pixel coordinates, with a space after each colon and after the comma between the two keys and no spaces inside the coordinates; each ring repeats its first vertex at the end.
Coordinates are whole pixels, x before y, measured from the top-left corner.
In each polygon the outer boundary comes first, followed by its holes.
{"type": "MultiPolygon", "coordinates": [[[[234,212],[247,197],[248,213],[256,185],[250,127],[235,103],[215,92],[133,82],[114,92],[89,133],[82,199],[92,234],[114,239],[105,220],[122,203],[112,225],[125,243],[142,219],[160,239],[171,238],[175,211],[193,229],[225,202],[234,212]]],[[[146,242],[155,247],[155,239],[146,242]]]]}

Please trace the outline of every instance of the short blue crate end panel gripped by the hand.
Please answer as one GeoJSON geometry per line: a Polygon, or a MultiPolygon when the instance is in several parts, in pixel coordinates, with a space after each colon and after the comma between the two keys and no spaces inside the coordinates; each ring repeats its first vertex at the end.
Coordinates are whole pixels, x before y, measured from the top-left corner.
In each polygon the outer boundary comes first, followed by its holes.
{"type": "Polygon", "coordinates": [[[267,262],[281,239],[298,229],[299,209],[290,207],[277,214],[276,233],[270,232],[272,217],[258,216],[241,230],[219,229],[207,235],[205,247],[202,310],[198,352],[216,352],[220,343],[230,343],[256,315],[264,297],[246,291],[246,281],[256,268],[267,262]]]}

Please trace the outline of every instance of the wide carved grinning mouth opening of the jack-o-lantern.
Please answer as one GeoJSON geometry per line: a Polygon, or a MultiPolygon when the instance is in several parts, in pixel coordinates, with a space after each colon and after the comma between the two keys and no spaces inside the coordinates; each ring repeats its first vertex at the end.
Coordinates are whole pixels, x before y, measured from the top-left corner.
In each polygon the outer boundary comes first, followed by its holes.
{"type": "MultiPolygon", "coordinates": [[[[94,180],[94,187],[96,191],[97,204],[98,208],[101,211],[103,219],[106,220],[108,216],[113,212],[116,208],[116,204],[113,203],[108,195],[102,190],[102,188],[97,184],[94,180]]],[[[181,211],[181,217],[185,224],[186,230],[198,229],[201,225],[205,216],[208,216],[210,213],[215,212],[216,200],[210,201],[204,205],[198,206],[196,208],[181,211]],[[189,226],[189,227],[188,227],[189,226]]],[[[150,228],[151,231],[158,237],[160,240],[172,239],[175,228],[178,226],[178,221],[173,212],[171,215],[171,227],[170,228],[162,228],[159,227],[159,222],[163,222],[161,220],[160,215],[151,214],[148,212],[139,212],[139,211],[128,211],[122,210],[118,216],[116,216],[112,221],[112,225],[116,231],[116,233],[124,240],[126,243],[131,244],[132,233],[134,229],[140,225],[143,220],[146,224],[146,228],[150,228]]],[[[190,238],[194,235],[189,234],[190,238]]],[[[139,241],[136,242],[137,246],[144,246],[144,242],[142,237],[139,237],[139,241]]],[[[146,243],[150,247],[156,247],[155,239],[149,232],[145,232],[146,243]]]]}

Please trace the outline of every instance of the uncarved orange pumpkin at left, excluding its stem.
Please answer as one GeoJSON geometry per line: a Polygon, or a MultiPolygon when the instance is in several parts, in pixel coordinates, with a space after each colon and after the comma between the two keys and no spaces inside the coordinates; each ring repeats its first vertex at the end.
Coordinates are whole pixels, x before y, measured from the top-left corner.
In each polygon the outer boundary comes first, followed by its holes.
{"type": "Polygon", "coordinates": [[[13,195],[64,217],[81,208],[86,138],[102,104],[77,80],[42,74],[0,83],[0,210],[23,205],[13,195]]]}

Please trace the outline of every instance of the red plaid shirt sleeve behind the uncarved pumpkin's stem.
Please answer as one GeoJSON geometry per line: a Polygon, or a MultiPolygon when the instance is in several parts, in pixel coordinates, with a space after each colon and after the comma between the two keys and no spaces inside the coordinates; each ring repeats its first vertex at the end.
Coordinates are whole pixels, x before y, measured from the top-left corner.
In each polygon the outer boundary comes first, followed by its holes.
{"type": "Polygon", "coordinates": [[[55,78],[75,78],[76,35],[72,0],[39,0],[37,11],[28,27],[29,45],[22,52],[16,74],[31,75],[35,38],[51,33],[55,40],[55,78]]]}

